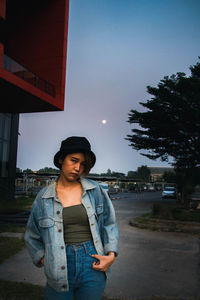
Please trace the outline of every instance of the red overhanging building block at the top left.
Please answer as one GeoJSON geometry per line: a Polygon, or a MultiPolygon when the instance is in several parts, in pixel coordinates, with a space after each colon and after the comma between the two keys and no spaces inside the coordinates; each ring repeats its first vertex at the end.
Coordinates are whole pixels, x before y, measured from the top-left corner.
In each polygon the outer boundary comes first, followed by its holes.
{"type": "Polygon", "coordinates": [[[0,112],[64,110],[69,0],[0,0],[0,112]]]}

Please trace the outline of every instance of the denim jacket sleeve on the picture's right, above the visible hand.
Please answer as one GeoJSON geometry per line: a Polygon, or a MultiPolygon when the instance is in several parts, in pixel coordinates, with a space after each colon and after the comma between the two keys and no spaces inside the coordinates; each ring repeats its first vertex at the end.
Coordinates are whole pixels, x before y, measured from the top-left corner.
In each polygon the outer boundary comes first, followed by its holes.
{"type": "Polygon", "coordinates": [[[103,228],[103,240],[104,251],[115,252],[115,256],[118,255],[118,227],[115,217],[115,210],[113,204],[107,194],[107,192],[101,188],[104,197],[104,228],[103,228]]]}

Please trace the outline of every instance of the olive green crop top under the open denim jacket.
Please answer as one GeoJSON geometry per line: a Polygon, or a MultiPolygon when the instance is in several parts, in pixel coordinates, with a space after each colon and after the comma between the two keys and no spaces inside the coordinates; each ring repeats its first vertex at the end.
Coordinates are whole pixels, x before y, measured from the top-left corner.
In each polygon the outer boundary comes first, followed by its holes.
{"type": "Polygon", "coordinates": [[[79,244],[92,240],[88,216],[83,204],[63,208],[65,244],[79,244]]]}

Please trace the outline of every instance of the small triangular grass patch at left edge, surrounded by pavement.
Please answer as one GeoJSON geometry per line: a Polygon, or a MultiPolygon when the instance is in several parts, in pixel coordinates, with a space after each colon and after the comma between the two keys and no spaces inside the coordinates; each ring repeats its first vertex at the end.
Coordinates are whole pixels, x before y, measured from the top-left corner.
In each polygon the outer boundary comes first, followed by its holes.
{"type": "Polygon", "coordinates": [[[24,247],[25,242],[22,239],[0,237],[0,263],[18,253],[24,247]]]}

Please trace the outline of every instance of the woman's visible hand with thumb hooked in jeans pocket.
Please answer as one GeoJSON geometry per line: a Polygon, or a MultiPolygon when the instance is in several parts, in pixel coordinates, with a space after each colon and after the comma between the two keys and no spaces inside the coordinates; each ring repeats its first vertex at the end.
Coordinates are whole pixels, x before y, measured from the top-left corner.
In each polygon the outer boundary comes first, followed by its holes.
{"type": "Polygon", "coordinates": [[[106,272],[115,260],[115,253],[110,252],[108,255],[93,254],[92,257],[98,259],[97,262],[95,261],[92,264],[93,269],[97,271],[106,272]]]}

